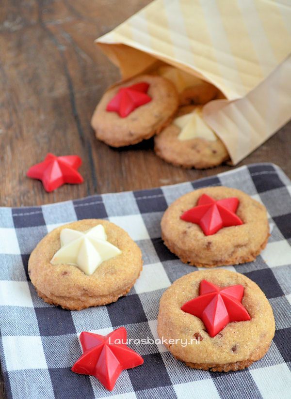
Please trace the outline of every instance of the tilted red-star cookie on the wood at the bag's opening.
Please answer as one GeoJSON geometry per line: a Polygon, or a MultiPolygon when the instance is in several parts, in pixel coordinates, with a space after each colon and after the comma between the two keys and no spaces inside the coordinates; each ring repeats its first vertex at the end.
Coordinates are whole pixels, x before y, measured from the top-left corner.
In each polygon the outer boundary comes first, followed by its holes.
{"type": "Polygon", "coordinates": [[[177,108],[178,93],[173,83],[142,75],[105,92],[91,124],[99,140],[121,147],[158,134],[177,108]]]}

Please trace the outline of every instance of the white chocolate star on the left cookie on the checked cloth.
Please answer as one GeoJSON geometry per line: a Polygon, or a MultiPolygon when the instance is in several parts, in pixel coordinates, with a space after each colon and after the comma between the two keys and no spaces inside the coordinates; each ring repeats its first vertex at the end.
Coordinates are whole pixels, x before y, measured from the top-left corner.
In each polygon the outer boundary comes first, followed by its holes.
{"type": "Polygon", "coordinates": [[[63,229],[60,234],[61,248],[54,254],[51,264],[71,264],[79,267],[87,276],[92,275],[103,262],[121,253],[107,241],[102,225],[87,231],[63,229]]]}

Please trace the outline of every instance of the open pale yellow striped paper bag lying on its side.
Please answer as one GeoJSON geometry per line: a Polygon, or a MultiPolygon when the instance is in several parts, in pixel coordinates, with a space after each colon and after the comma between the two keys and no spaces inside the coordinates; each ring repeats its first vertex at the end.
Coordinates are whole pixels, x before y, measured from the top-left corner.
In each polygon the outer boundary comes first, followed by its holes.
{"type": "Polygon", "coordinates": [[[155,0],[96,42],[124,79],[163,61],[215,85],[203,116],[234,165],[291,117],[288,0],[155,0]]]}

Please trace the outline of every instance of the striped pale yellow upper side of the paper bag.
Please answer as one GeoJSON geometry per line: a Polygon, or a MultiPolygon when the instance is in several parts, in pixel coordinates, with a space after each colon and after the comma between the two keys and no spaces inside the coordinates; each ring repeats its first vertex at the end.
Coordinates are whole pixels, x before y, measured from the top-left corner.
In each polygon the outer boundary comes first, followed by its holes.
{"type": "MultiPolygon", "coordinates": [[[[291,2],[275,0],[155,0],[97,43],[141,50],[217,86],[229,100],[243,97],[291,52],[291,2]]],[[[126,77],[145,59],[102,46],[126,77]],[[117,60],[116,60],[117,57],[117,60]],[[140,62],[139,62],[140,58],[140,62]]],[[[148,63],[153,60],[148,58],[148,63]]]]}

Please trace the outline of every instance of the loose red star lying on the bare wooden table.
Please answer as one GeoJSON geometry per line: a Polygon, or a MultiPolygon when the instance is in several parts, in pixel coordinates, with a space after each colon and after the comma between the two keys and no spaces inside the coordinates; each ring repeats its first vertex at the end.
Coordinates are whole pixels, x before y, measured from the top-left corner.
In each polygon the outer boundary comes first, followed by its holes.
{"type": "Polygon", "coordinates": [[[55,156],[48,153],[45,160],[32,166],[27,176],[41,180],[45,190],[50,192],[65,183],[79,184],[84,181],[77,169],[82,160],[78,155],[55,156]]]}

